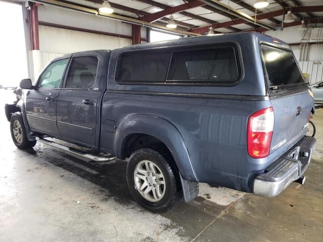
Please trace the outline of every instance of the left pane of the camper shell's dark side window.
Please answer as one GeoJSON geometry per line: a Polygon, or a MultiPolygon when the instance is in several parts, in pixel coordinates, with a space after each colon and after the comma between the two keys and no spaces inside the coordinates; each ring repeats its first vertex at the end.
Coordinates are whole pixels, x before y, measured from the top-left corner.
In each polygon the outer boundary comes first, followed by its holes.
{"type": "Polygon", "coordinates": [[[160,82],[166,80],[170,53],[133,53],[120,59],[119,82],[160,82]]]}

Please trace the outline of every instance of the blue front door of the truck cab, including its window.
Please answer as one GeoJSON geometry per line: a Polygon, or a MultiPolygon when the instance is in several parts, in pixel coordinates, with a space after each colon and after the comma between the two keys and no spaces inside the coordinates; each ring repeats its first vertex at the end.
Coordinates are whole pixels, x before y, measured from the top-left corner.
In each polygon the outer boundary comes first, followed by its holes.
{"type": "Polygon", "coordinates": [[[52,62],[39,76],[34,89],[26,96],[26,112],[31,131],[60,137],[56,104],[69,58],[52,62]]]}

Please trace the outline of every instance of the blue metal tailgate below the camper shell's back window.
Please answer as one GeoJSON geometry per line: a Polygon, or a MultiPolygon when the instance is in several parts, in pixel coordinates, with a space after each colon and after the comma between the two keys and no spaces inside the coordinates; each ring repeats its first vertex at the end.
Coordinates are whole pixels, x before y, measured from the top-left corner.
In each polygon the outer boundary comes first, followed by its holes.
{"type": "Polygon", "coordinates": [[[274,115],[274,132],[270,153],[286,152],[300,140],[307,131],[308,118],[312,108],[312,97],[308,90],[271,100],[274,115]]]}

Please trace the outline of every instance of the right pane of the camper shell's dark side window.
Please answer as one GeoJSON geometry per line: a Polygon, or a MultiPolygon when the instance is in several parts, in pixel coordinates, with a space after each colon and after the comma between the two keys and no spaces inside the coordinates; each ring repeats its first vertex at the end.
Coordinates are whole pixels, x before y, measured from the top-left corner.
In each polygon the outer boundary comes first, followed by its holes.
{"type": "Polygon", "coordinates": [[[168,80],[234,83],[239,77],[237,58],[232,47],[174,52],[168,80]]]}

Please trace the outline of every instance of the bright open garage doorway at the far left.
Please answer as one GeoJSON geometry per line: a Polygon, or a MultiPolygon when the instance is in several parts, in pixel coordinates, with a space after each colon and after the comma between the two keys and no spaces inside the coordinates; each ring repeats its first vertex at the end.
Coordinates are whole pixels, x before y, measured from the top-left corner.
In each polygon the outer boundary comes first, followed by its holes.
{"type": "Polygon", "coordinates": [[[28,78],[22,5],[0,2],[0,85],[17,87],[28,78]]]}

